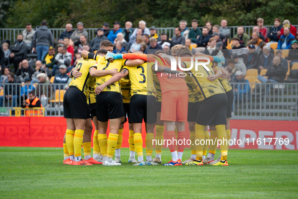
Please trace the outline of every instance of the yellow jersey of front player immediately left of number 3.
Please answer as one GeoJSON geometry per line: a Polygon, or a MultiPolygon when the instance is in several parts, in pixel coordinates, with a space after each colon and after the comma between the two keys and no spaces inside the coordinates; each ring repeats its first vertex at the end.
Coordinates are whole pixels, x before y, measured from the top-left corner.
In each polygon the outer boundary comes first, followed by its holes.
{"type": "MultiPolygon", "coordinates": [[[[114,60],[113,63],[110,63],[107,60],[105,60],[104,57],[101,57],[101,56],[96,56],[96,61],[97,61],[97,70],[110,70],[110,69],[116,68],[116,69],[118,69],[118,72],[120,72],[121,68],[123,66],[125,66],[125,62],[126,62],[126,60],[124,60],[124,59],[118,59],[118,60],[114,60]]],[[[96,77],[96,86],[99,86],[99,85],[105,83],[111,77],[112,77],[112,75],[96,77]]],[[[116,82],[106,86],[102,91],[112,91],[112,92],[121,93],[119,81],[116,81],[116,82]]]]}

